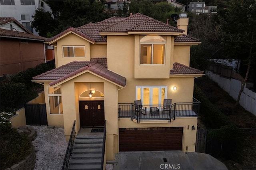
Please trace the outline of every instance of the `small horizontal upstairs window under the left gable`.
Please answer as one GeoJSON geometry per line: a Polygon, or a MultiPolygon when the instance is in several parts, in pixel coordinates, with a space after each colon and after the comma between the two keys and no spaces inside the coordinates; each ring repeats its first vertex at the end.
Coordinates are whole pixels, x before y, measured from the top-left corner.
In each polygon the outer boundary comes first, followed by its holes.
{"type": "Polygon", "coordinates": [[[63,57],[85,57],[85,46],[62,46],[63,57]]]}

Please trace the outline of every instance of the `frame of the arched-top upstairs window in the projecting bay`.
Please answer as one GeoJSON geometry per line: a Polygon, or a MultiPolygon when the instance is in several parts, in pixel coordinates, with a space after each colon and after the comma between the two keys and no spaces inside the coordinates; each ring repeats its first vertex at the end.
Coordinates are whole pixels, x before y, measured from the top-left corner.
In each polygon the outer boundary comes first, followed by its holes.
{"type": "MultiPolygon", "coordinates": [[[[159,36],[159,35],[146,35],[146,36],[159,36]]],[[[163,38],[162,36],[159,36],[161,37],[164,42],[141,42],[141,40],[146,37],[146,36],[143,36],[142,38],[140,38],[140,65],[165,65],[165,62],[166,62],[166,39],[163,38]],[[144,64],[144,63],[141,63],[141,50],[142,50],[142,47],[141,45],[142,44],[151,44],[151,63],[150,64],[144,64]],[[153,63],[153,55],[154,55],[154,44],[160,44],[160,45],[164,45],[164,62],[162,64],[154,64],[153,63]]],[[[144,48],[144,47],[143,47],[144,48]]]]}

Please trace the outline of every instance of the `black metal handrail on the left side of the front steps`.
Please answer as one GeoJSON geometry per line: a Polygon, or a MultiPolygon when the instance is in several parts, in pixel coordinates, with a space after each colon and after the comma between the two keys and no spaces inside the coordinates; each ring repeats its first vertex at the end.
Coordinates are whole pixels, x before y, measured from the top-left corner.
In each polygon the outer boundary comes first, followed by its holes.
{"type": "Polygon", "coordinates": [[[68,164],[69,164],[71,152],[73,150],[73,143],[74,143],[74,139],[75,139],[75,136],[76,136],[75,124],[76,124],[76,121],[74,121],[74,123],[73,123],[70,138],[68,140],[68,147],[67,147],[64,162],[63,162],[63,165],[62,165],[62,170],[67,170],[68,169],[68,164]]]}

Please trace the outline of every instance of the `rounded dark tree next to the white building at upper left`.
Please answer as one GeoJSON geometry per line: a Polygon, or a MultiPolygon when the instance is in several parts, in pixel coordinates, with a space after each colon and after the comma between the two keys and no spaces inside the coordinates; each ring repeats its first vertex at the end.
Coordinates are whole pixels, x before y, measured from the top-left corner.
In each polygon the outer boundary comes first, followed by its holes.
{"type": "Polygon", "coordinates": [[[32,17],[34,18],[34,21],[32,21],[32,27],[36,29],[36,32],[39,32],[39,35],[42,37],[50,38],[47,34],[54,32],[57,24],[52,18],[52,14],[38,8],[32,17]]]}

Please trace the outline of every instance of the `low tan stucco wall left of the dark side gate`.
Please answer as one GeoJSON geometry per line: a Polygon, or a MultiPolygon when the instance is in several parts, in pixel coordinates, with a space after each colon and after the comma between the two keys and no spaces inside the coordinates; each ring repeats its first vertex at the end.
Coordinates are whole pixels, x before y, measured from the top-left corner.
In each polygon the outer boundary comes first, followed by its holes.
{"type": "Polygon", "coordinates": [[[25,108],[22,107],[16,111],[16,114],[10,118],[10,121],[12,122],[12,127],[14,128],[26,126],[25,108]]]}

